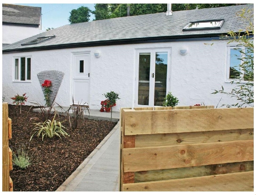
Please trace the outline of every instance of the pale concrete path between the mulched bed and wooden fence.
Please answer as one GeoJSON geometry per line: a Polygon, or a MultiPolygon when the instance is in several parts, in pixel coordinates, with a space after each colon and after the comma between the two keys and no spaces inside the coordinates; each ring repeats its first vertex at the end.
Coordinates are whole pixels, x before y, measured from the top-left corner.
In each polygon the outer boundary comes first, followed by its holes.
{"type": "Polygon", "coordinates": [[[56,191],[119,191],[119,122],[56,191]]]}

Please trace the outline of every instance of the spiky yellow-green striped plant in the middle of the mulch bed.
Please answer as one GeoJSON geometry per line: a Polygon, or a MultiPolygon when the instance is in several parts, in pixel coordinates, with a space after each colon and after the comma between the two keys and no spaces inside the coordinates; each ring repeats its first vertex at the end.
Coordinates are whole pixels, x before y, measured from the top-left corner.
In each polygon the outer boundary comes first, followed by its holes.
{"type": "Polygon", "coordinates": [[[68,133],[66,133],[66,131],[64,130],[67,128],[65,128],[60,121],[56,121],[55,116],[56,114],[54,115],[52,121],[47,120],[44,122],[34,123],[37,127],[35,127],[33,130],[36,130],[36,132],[30,137],[29,141],[31,141],[32,137],[36,133],[37,137],[42,136],[42,141],[44,141],[44,137],[52,138],[53,136],[60,137],[61,135],[64,137],[69,136],[68,133]]]}

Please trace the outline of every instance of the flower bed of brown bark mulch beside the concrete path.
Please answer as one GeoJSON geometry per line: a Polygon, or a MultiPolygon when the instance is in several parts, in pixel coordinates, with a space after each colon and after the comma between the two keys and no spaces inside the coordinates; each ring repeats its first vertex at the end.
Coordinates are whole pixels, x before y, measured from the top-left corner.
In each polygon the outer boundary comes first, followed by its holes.
{"type": "MultiPolygon", "coordinates": [[[[42,141],[42,137],[34,135],[29,142],[35,127],[33,123],[41,122],[35,119],[40,117],[40,113],[33,112],[35,107],[30,107],[23,105],[20,114],[20,106],[8,105],[9,118],[12,119],[9,146],[15,152],[20,144],[27,144],[28,154],[33,158],[32,165],[26,169],[13,165],[10,171],[13,191],[56,191],[115,127],[116,122],[80,121],[76,130],[66,130],[69,137],[47,137],[42,141]]],[[[67,121],[62,124],[69,127],[67,121]]]]}

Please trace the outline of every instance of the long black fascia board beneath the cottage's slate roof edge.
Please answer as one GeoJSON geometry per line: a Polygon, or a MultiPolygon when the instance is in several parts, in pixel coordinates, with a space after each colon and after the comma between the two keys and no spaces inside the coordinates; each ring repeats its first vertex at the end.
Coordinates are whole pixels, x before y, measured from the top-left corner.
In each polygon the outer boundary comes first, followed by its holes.
{"type": "MultiPolygon", "coordinates": [[[[221,35],[228,35],[222,33],[221,35]]],[[[108,46],[108,45],[125,45],[125,44],[139,44],[139,43],[168,43],[168,42],[180,42],[180,41],[211,41],[220,40],[220,34],[207,34],[207,35],[192,35],[192,36],[164,36],[164,37],[146,37],[146,38],[134,38],[134,39],[117,39],[108,41],[86,42],[86,43],[68,43],[59,45],[48,45],[41,47],[28,47],[4,50],[2,53],[16,53],[26,51],[44,51],[44,50],[57,50],[57,49],[70,49],[81,47],[96,47],[96,46],[108,46]]]]}

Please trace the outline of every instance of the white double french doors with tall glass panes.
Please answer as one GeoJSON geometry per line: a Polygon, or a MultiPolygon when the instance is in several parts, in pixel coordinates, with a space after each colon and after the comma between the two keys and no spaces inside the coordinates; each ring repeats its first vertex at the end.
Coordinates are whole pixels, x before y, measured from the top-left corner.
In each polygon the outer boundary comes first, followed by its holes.
{"type": "Polygon", "coordinates": [[[170,49],[137,51],[135,106],[163,106],[169,89],[170,49]]]}

